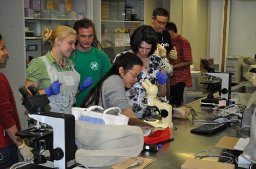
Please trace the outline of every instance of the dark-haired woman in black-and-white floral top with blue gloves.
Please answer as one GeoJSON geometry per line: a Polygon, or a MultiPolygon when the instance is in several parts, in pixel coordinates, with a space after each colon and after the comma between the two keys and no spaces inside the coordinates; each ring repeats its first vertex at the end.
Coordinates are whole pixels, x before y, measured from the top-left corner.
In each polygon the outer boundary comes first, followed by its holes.
{"type": "MultiPolygon", "coordinates": [[[[148,78],[153,85],[158,87],[158,97],[163,97],[166,93],[165,82],[167,76],[164,73],[164,64],[162,59],[154,54],[157,49],[157,35],[152,26],[141,25],[131,36],[131,50],[142,61],[142,78],[148,78]]],[[[125,53],[125,52],[124,52],[125,53]]],[[[121,55],[119,53],[116,58],[121,55]]],[[[114,60],[114,63],[117,62],[114,60]]],[[[137,118],[147,118],[155,115],[155,108],[150,108],[143,105],[143,97],[145,90],[137,81],[133,87],[126,90],[126,97],[129,99],[129,104],[133,108],[137,118]]]]}

